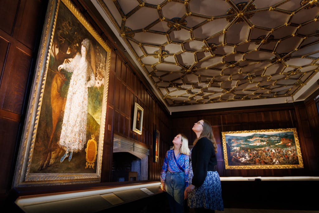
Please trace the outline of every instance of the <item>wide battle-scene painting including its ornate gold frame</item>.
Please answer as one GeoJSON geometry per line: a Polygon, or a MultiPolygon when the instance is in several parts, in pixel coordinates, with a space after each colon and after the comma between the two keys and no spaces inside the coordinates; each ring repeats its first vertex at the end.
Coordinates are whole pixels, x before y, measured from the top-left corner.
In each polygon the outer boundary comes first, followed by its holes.
{"type": "Polygon", "coordinates": [[[303,168],[296,128],[222,132],[225,169],[303,168]]]}

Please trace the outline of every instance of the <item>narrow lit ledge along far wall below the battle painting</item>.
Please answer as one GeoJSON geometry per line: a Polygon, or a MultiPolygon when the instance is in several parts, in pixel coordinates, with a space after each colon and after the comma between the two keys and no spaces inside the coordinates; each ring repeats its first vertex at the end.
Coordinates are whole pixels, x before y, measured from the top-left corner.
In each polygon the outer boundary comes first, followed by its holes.
{"type": "Polygon", "coordinates": [[[221,181],[308,181],[319,180],[319,177],[314,176],[292,176],[292,177],[220,177],[221,181]]]}

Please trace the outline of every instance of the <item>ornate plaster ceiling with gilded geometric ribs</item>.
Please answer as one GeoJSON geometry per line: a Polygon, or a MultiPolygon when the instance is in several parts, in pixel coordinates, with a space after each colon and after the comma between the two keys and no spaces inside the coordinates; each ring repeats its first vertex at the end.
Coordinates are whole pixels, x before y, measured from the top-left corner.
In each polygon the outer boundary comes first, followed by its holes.
{"type": "Polygon", "coordinates": [[[168,108],[294,102],[317,86],[317,0],[92,2],[168,108]]]}

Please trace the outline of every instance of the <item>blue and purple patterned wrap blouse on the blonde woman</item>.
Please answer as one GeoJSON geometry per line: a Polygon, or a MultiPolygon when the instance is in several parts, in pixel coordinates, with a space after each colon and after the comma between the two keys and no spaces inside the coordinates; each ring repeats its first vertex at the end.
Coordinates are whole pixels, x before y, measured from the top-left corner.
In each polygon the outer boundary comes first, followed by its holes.
{"type": "MultiPolygon", "coordinates": [[[[185,154],[178,153],[176,156],[176,161],[182,169],[185,171],[185,183],[188,186],[188,173],[189,173],[189,156],[185,154]]],[[[183,172],[178,168],[174,160],[174,150],[170,149],[166,152],[164,163],[162,166],[162,171],[160,173],[160,182],[165,182],[166,172],[183,172]]]]}

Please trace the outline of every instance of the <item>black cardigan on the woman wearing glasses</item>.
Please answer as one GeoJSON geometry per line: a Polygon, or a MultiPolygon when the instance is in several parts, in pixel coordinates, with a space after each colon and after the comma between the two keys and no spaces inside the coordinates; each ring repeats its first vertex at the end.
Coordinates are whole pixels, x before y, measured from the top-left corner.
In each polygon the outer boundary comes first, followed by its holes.
{"type": "Polygon", "coordinates": [[[216,171],[217,158],[213,144],[204,137],[197,141],[191,153],[192,169],[194,177],[192,184],[196,187],[202,186],[207,171],[216,171]]]}

